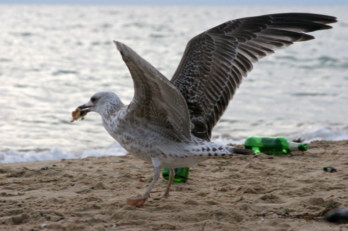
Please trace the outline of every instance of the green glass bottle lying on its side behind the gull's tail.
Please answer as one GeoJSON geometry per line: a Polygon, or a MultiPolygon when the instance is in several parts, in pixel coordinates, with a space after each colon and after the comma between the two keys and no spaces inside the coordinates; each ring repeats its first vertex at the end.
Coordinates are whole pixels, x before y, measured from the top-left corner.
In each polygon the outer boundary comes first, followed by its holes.
{"type": "Polygon", "coordinates": [[[291,151],[308,150],[307,144],[289,142],[280,136],[249,136],[245,141],[245,148],[267,155],[281,155],[291,151]]]}

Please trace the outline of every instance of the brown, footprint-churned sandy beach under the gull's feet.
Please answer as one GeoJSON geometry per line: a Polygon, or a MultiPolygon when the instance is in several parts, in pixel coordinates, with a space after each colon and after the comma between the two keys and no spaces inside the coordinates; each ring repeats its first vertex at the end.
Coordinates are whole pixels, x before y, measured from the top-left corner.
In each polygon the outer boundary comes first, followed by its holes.
{"type": "Polygon", "coordinates": [[[139,208],[126,201],[144,193],[154,169],[132,155],[3,164],[0,230],[346,230],[316,217],[348,207],[348,140],[308,146],[205,161],[173,184],[169,199],[161,177],[139,208]]]}

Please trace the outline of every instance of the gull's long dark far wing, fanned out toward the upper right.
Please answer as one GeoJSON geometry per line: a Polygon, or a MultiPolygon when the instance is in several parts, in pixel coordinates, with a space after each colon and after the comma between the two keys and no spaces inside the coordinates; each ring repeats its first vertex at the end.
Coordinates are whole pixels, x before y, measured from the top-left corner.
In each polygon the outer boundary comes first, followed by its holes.
{"type": "Polygon", "coordinates": [[[309,13],[269,14],[228,21],[192,38],[171,80],[186,100],[192,133],[210,139],[252,62],[314,39],[303,32],[330,29],[325,24],[336,21],[309,13]]]}

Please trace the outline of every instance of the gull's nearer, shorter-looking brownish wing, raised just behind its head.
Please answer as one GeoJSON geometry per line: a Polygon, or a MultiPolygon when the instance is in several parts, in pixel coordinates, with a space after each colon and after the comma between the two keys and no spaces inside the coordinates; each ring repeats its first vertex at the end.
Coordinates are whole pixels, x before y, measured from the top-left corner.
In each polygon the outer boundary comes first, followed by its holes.
{"type": "Polygon", "coordinates": [[[174,85],[126,45],[114,41],[132,75],[134,97],[129,113],[146,121],[153,131],[180,142],[191,138],[191,122],[185,99],[174,85]]]}

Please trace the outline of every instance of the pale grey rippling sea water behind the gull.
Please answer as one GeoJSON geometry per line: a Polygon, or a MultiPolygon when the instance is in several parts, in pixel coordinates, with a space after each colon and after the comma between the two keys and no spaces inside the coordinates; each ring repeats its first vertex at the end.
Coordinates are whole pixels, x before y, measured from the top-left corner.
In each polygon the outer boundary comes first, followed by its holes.
{"type": "Polygon", "coordinates": [[[71,112],[98,91],[132,100],[132,78],[113,40],[131,47],[169,79],[186,43],[225,21],[280,12],[338,17],[263,58],[213,131],[212,140],[249,135],[348,139],[347,6],[0,5],[0,163],[122,155],[89,113],[71,112]]]}

